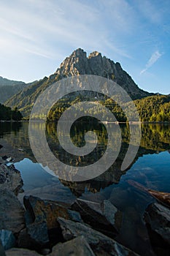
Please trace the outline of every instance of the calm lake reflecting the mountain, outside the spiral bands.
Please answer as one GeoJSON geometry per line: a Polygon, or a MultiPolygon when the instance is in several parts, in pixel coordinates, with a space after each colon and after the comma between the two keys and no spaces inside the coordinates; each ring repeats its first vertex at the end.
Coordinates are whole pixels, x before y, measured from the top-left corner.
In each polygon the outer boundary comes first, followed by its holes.
{"type": "MultiPolygon", "coordinates": [[[[41,131],[41,123],[34,125],[38,132],[41,131]]],[[[116,126],[117,124],[114,124],[112,127],[115,133],[116,126]]],[[[103,124],[96,121],[77,122],[70,132],[76,146],[85,146],[85,132],[88,130],[96,132],[98,144],[94,151],[85,157],[72,156],[61,148],[55,123],[46,126],[47,143],[61,162],[74,166],[93,166],[106,150],[107,130],[103,124]]],[[[19,195],[20,200],[23,195],[36,195],[68,204],[74,202],[76,197],[96,202],[110,200],[123,212],[123,225],[115,240],[140,255],[155,255],[143,221],[145,208],[155,199],[132,186],[131,181],[136,181],[148,189],[170,192],[170,124],[142,124],[139,151],[127,170],[120,169],[128,149],[128,125],[120,124],[120,131],[122,143],[116,161],[101,176],[88,181],[61,180],[45,167],[47,162],[37,163],[28,140],[28,122],[0,122],[0,145],[4,146],[0,149],[0,156],[6,154],[7,157],[14,157],[15,167],[20,170],[24,182],[24,193],[19,195]]],[[[62,136],[69,135],[63,132],[62,136]]],[[[92,140],[90,143],[96,142],[92,140]]],[[[39,151],[41,152],[41,148],[39,151]]]]}

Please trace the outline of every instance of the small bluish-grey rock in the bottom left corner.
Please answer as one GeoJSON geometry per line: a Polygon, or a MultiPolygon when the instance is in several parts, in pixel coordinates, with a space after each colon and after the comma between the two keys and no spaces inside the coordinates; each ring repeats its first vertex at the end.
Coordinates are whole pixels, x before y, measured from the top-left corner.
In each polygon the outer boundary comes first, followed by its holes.
{"type": "Polygon", "coordinates": [[[9,230],[0,230],[0,240],[4,250],[15,247],[16,245],[15,236],[9,230]]]}

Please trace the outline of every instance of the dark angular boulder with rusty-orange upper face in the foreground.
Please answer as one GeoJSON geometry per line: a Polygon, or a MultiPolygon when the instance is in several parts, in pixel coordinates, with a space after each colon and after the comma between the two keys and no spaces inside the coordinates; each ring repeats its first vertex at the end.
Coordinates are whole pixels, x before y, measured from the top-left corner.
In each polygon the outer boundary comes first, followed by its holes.
{"type": "Polygon", "coordinates": [[[20,232],[18,246],[35,249],[51,248],[63,241],[58,217],[81,222],[80,214],[61,206],[52,200],[42,200],[39,197],[25,196],[23,203],[26,207],[26,229],[20,232]]]}

